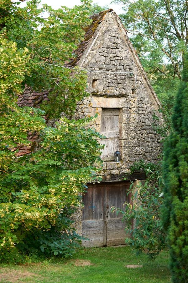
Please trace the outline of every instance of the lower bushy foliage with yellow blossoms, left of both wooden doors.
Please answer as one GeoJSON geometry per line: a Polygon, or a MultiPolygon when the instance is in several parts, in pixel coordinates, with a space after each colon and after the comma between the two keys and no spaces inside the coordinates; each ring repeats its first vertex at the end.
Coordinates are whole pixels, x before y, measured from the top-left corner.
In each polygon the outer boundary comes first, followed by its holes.
{"type": "MultiPolygon", "coordinates": [[[[0,258],[20,261],[30,252],[70,256],[80,237],[70,214],[86,183],[96,180],[100,137],[92,118],[61,119],[40,133],[41,148],[12,158],[0,175],[0,258]]],[[[8,149],[7,149],[8,150],[8,149]]],[[[9,150],[10,151],[10,150],[9,150]]],[[[13,153],[12,153],[13,154],[13,153]]],[[[99,166],[100,167],[100,166],[99,166]]]]}

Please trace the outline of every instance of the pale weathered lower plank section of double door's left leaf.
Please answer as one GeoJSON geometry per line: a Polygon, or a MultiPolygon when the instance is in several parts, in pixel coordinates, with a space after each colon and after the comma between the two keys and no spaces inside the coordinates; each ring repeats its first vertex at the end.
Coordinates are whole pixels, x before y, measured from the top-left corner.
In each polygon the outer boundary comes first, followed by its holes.
{"type": "Polygon", "coordinates": [[[102,247],[104,245],[104,220],[82,221],[82,236],[89,240],[82,240],[84,247],[102,247]]]}

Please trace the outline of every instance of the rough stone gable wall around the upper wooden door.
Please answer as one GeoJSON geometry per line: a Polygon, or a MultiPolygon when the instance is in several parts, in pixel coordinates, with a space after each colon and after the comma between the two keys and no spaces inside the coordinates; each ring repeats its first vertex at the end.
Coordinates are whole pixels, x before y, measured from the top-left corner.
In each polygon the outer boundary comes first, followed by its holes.
{"type": "Polygon", "coordinates": [[[87,91],[90,96],[77,104],[74,118],[98,113],[91,126],[100,131],[102,108],[120,108],[119,150],[122,162],[103,163],[106,180],[110,180],[111,175],[127,173],[134,161],[144,159],[155,162],[160,152],[160,137],[152,129],[152,116],[154,112],[157,114],[157,103],[111,13],[108,13],[106,23],[82,68],[108,73],[88,72],[87,91]]]}

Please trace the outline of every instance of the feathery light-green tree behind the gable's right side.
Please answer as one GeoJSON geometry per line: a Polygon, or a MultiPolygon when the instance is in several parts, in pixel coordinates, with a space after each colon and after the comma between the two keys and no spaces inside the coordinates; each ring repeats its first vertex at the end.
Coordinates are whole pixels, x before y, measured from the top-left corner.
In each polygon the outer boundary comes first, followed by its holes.
{"type": "Polygon", "coordinates": [[[175,95],[188,44],[187,0],[117,0],[120,15],[160,99],[175,95]],[[170,93],[169,93],[170,92],[170,93]]]}

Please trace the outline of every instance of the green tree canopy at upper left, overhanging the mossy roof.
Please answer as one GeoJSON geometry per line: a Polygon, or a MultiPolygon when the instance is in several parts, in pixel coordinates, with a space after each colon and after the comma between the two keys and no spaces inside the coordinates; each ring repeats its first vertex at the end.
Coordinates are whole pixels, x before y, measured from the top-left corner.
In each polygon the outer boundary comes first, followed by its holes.
{"type": "Polygon", "coordinates": [[[76,44],[84,35],[83,28],[90,23],[89,2],[82,2],[81,6],[72,9],[62,7],[57,10],[46,4],[41,9],[37,8],[38,0],[27,2],[26,8],[17,7],[11,0],[0,3],[0,32],[4,32],[3,37],[15,42],[18,49],[27,48],[29,51],[28,73],[22,86],[27,84],[35,90],[50,92],[50,103],[41,108],[51,117],[59,118],[62,111],[70,115],[76,101],[85,95],[85,75],[70,75],[70,70],[49,65],[63,66],[67,60],[74,58],[76,44]],[[46,13],[48,16],[44,18],[46,13]]]}

